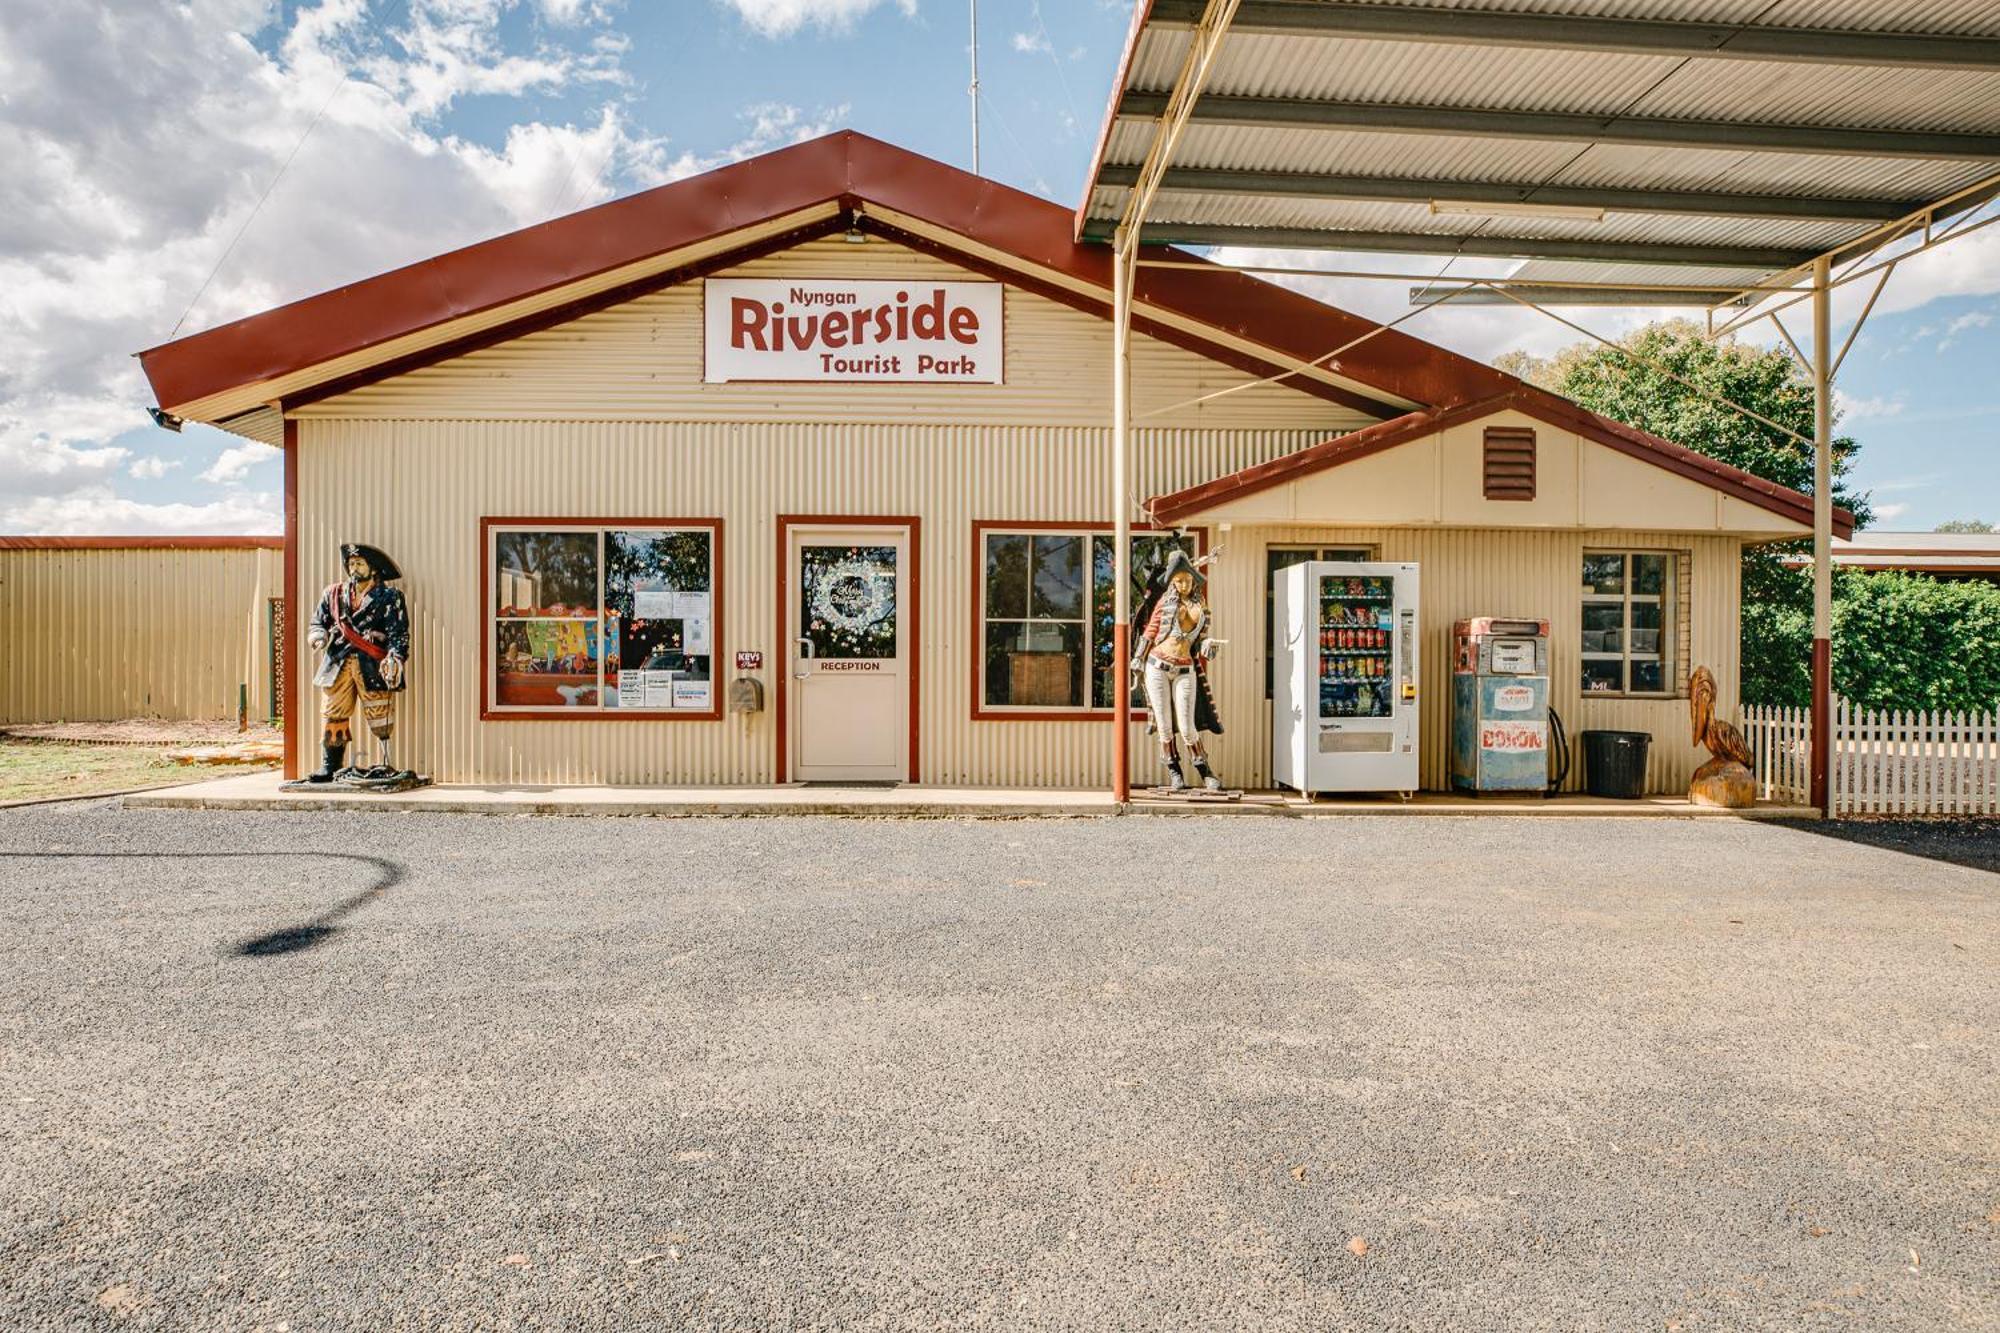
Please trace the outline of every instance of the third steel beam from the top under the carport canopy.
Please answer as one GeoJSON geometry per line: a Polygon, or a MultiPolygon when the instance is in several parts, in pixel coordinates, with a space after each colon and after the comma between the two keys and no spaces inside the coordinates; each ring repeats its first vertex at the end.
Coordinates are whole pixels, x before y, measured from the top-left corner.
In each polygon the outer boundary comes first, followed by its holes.
{"type": "MultiPolygon", "coordinates": [[[[1098,168],[1100,186],[1132,186],[1138,166],[1098,168]]],[[[1338,198],[1392,204],[1464,200],[1474,204],[1560,204],[1606,212],[1668,212],[1730,218],[1804,218],[1818,222],[1894,222],[1926,200],[1816,198],[1810,194],[1722,194],[1714,190],[1624,190],[1614,186],[1548,186],[1494,180],[1414,180],[1408,176],[1330,176],[1320,172],[1252,172],[1176,166],[1162,190],[1264,198],[1338,198]]]]}

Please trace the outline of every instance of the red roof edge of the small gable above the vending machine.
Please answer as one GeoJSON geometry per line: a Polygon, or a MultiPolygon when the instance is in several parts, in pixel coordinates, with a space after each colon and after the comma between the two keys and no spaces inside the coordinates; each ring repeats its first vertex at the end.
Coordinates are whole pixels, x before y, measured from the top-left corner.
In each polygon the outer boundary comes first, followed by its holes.
{"type": "MultiPolygon", "coordinates": [[[[1398,444],[1408,444],[1410,440],[1436,434],[1448,426],[1492,416],[1502,410],[1522,412],[1562,430],[1574,430],[1586,440],[1594,440],[1606,448],[1616,448],[1622,454],[1666,468],[1668,472],[1678,472],[1680,476],[1698,480],[1704,486],[1712,486],[1724,494],[1736,496],[1738,500],[1766,508],[1780,518],[1812,526],[1812,496],[1800,494],[1790,486],[1764,480],[1762,476],[1744,472],[1742,468],[1732,468],[1726,462],[1710,458],[1708,454],[1698,454],[1684,444],[1674,444],[1672,440],[1664,440],[1656,434],[1640,430],[1638,426],[1628,426],[1612,420],[1610,416],[1600,416],[1598,412],[1582,408],[1568,398],[1534,388],[1532,384],[1522,384],[1512,392],[1480,398],[1478,402],[1406,412],[1402,416],[1364,426],[1362,430],[1352,430],[1332,440],[1312,444],[1310,448],[1286,454],[1284,458],[1258,462],[1256,466],[1230,472],[1228,476],[1218,476],[1216,480],[1202,482],[1200,486],[1188,486],[1186,490],[1154,496],[1146,502],[1146,510],[1152,514],[1154,522],[1180,522],[1182,518],[1214,508],[1216,504],[1256,494],[1258,490],[1270,490],[1272,486],[1282,486],[1298,480],[1300,476],[1310,476],[1314,472],[1324,472],[1326,468],[1336,468],[1344,462],[1354,462],[1356,458],[1380,454],[1382,450],[1396,448],[1398,444]]],[[[1840,536],[1852,534],[1854,514],[1836,506],[1834,532],[1840,536]]]]}

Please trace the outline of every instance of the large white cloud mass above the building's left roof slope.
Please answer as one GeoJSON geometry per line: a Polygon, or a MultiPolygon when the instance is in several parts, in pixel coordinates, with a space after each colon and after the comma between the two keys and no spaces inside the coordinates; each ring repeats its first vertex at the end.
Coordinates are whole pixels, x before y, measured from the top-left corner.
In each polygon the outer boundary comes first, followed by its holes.
{"type": "Polygon", "coordinates": [[[584,124],[516,124],[498,148],[440,130],[436,114],[460,96],[614,90],[628,44],[592,26],[608,6],[534,0],[550,22],[580,26],[506,50],[502,14],[526,2],[414,0],[390,10],[404,20],[388,30],[370,28],[366,0],[308,2],[276,42],[260,40],[276,54],[246,36],[276,20],[272,0],[102,0],[90,22],[72,6],[10,12],[0,36],[8,522],[66,522],[32,500],[158,480],[152,466],[128,472],[144,460],[108,440],[144,426],[152,400],[130,352],[170,336],[210,270],[180,332],[598,202],[614,182],[668,176],[666,140],[636,130],[616,102],[584,124]]]}

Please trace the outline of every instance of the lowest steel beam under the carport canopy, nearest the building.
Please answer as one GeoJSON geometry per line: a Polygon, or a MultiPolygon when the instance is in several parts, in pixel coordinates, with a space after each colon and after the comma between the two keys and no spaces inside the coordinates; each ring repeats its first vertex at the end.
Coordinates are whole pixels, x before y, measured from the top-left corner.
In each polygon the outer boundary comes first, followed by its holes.
{"type": "MultiPolygon", "coordinates": [[[[1090,222],[1084,240],[1110,240],[1112,222],[1090,222]]],[[[1764,246],[1690,246],[1648,240],[1572,240],[1560,236],[1466,236],[1452,232],[1350,232],[1318,226],[1218,226],[1210,222],[1148,222],[1146,244],[1258,246],[1272,250],[1390,250],[1400,254],[1478,254],[1490,258],[1572,258],[1634,264],[1700,264],[1704,268],[1794,268],[1816,250],[1764,246]]]]}

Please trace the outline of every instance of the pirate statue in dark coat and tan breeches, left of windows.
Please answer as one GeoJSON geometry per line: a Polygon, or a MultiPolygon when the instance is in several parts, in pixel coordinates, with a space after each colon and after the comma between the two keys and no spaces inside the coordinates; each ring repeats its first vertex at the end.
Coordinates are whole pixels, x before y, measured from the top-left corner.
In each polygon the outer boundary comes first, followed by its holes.
{"type": "Polygon", "coordinates": [[[388,586],[402,578],[402,570],[386,554],[360,542],[344,544],[340,562],[346,578],[320,594],[312,628],[306,630],[306,642],[322,652],[312,683],[320,687],[326,747],[320,771],[306,785],[340,783],[368,791],[418,787],[414,773],[396,771],[388,749],[396,729],[396,693],[402,691],[410,662],[410,610],[402,592],[388,586]],[[380,763],[372,769],[346,767],[356,705],[380,747],[380,763]]]}

